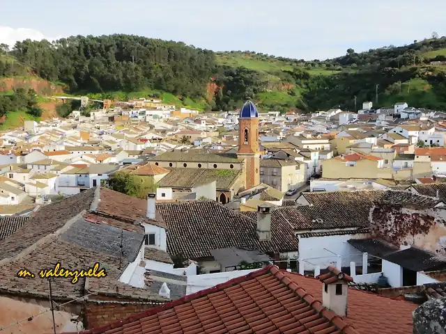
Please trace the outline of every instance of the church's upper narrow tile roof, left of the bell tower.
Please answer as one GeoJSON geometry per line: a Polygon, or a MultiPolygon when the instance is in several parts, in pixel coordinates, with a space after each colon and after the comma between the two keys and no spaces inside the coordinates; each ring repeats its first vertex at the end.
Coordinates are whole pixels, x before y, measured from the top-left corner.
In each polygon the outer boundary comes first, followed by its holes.
{"type": "Polygon", "coordinates": [[[196,152],[164,152],[150,159],[151,161],[180,161],[180,162],[222,162],[222,163],[240,163],[240,159],[234,154],[213,154],[196,152]]]}

